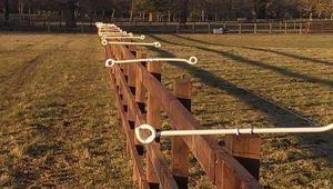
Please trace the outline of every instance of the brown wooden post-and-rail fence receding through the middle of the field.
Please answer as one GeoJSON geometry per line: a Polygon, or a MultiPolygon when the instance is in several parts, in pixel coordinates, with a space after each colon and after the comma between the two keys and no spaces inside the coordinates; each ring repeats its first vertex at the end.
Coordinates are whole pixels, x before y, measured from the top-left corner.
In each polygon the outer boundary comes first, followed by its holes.
{"type": "MultiPolygon", "coordinates": [[[[135,47],[104,48],[107,58],[115,60],[145,58],[135,47]]],[[[216,188],[261,188],[259,183],[260,138],[255,135],[226,136],[224,145],[211,136],[171,138],[171,158],[161,150],[160,140],[140,143],[134,128],[149,123],[161,129],[165,112],[172,129],[196,129],[191,115],[191,81],[178,79],[173,92],[161,83],[161,63],[114,64],[108,68],[111,91],[125,135],[125,149],[133,163],[133,181],[140,188],[188,188],[190,153],[216,188]]]]}

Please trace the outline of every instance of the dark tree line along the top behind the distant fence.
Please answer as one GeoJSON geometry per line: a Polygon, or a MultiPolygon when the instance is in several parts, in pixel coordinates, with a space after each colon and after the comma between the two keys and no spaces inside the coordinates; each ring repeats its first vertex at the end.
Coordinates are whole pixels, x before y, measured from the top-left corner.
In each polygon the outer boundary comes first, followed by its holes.
{"type": "Polygon", "coordinates": [[[333,0],[1,0],[9,13],[48,14],[78,19],[147,19],[149,21],[333,19],[333,0]]]}

